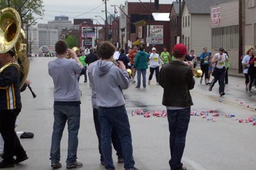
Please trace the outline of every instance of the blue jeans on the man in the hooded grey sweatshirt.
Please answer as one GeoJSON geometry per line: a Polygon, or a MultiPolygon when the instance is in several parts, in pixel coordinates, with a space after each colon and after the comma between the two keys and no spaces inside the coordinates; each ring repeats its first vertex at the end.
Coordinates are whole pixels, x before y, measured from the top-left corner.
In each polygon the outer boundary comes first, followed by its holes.
{"type": "Polygon", "coordinates": [[[125,107],[100,107],[99,121],[101,128],[101,147],[105,161],[105,169],[114,169],[111,144],[112,127],[114,127],[116,130],[117,135],[121,141],[124,157],[124,169],[134,168],[135,162],[132,156],[132,135],[125,107]]]}

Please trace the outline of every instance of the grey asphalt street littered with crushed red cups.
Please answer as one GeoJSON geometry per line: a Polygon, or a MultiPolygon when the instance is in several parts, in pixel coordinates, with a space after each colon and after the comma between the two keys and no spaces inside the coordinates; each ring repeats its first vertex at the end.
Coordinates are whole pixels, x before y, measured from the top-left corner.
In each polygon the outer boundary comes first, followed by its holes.
{"type": "MultiPolygon", "coordinates": [[[[18,132],[33,132],[33,139],[21,140],[29,159],[14,169],[44,170],[50,168],[49,152],[50,137],[53,130],[53,81],[48,75],[48,62],[54,57],[34,57],[31,59],[28,79],[37,97],[33,98],[30,91],[24,91],[23,108],[18,118],[18,132]]],[[[146,73],[149,77],[149,72],[146,73]]],[[[220,113],[215,122],[203,119],[202,116],[191,116],[186,138],[186,148],[183,154],[183,164],[188,169],[196,170],[251,170],[256,169],[256,126],[252,123],[238,123],[234,118],[225,118],[225,114],[234,114],[235,118],[256,118],[256,96],[245,94],[244,79],[229,77],[226,95],[218,95],[218,84],[213,91],[208,86],[199,84],[196,79],[195,88],[191,91],[194,106],[191,110],[213,110],[220,113]]],[[[132,116],[132,111],[141,108],[144,111],[161,111],[163,89],[156,85],[155,78],[146,89],[136,89],[136,84],[130,84],[124,91],[127,98],[127,112],[132,129],[134,159],[138,169],[168,170],[169,169],[169,129],[167,118],[144,118],[142,115],[132,116]]],[[[89,83],[83,83],[80,78],[81,96],[81,126],[79,132],[78,161],[85,170],[103,170],[100,165],[100,155],[97,149],[97,137],[92,119],[89,83]]],[[[210,113],[213,115],[215,113],[210,113]]],[[[208,116],[212,118],[212,116],[208,116]]],[[[68,133],[65,129],[61,145],[61,163],[65,169],[67,155],[68,133]]],[[[116,169],[123,169],[117,164],[113,152],[116,169]]]]}

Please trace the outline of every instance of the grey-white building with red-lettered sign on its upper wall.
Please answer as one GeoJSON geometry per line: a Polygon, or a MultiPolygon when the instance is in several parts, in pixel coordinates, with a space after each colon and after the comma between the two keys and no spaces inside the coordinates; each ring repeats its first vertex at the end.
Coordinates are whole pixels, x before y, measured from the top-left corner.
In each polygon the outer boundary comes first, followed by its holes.
{"type": "Polygon", "coordinates": [[[211,6],[212,50],[224,47],[228,52],[230,69],[238,69],[239,1],[211,6]]]}

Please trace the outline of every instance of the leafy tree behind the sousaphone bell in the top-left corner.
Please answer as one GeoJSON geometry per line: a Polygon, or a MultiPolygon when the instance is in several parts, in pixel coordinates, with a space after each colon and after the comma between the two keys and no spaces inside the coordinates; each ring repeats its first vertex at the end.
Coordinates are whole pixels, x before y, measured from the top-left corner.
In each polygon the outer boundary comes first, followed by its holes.
{"type": "MultiPolygon", "coordinates": [[[[22,23],[33,23],[38,16],[43,16],[43,0],[10,0],[10,7],[21,16],[22,23]],[[37,17],[35,17],[37,16],[37,17]]],[[[0,9],[8,7],[8,0],[0,0],[0,9]]]]}

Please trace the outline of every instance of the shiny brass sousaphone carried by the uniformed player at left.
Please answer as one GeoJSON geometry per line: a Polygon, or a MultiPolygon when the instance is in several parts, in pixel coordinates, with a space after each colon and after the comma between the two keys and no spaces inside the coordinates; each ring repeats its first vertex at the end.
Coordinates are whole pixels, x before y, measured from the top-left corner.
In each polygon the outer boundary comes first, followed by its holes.
{"type": "MultiPolygon", "coordinates": [[[[26,35],[21,29],[21,17],[14,8],[4,8],[0,11],[0,53],[15,48],[16,66],[20,73],[20,87],[28,76],[28,56],[26,50],[26,35]]],[[[1,67],[1,72],[13,62],[1,67]]]]}

